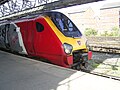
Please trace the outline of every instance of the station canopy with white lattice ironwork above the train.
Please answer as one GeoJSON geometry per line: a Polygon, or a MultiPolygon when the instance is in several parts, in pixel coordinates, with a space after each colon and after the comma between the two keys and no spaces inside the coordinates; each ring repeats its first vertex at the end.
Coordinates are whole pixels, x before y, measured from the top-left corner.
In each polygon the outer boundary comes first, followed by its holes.
{"type": "Polygon", "coordinates": [[[0,20],[103,0],[0,0],[0,20]]]}

